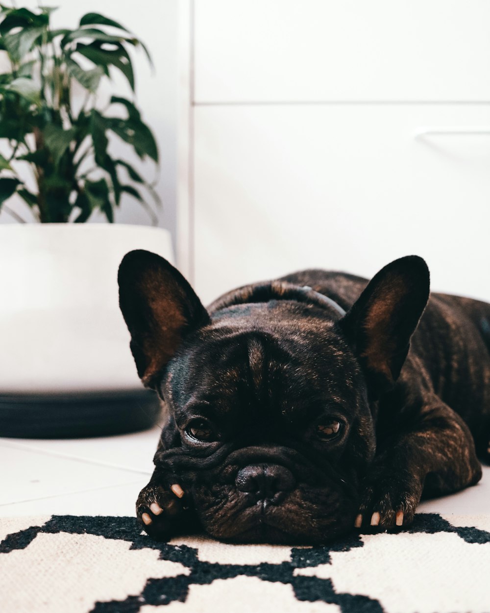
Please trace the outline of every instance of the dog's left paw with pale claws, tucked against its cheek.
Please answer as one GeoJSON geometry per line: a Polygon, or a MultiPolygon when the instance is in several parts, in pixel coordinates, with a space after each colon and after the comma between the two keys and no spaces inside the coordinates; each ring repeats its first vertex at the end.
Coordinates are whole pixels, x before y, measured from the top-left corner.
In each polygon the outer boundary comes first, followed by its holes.
{"type": "Polygon", "coordinates": [[[149,482],[136,501],[136,516],[152,538],[171,538],[186,526],[189,516],[186,494],[176,483],[164,487],[149,482]]]}

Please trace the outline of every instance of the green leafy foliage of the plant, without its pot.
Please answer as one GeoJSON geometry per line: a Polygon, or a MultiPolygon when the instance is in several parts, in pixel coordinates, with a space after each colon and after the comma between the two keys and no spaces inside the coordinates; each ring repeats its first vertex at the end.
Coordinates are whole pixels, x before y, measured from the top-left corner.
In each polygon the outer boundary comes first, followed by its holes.
{"type": "Polygon", "coordinates": [[[100,85],[114,70],[134,92],[129,48],[141,47],[151,61],[148,51],[99,13],[86,13],[75,29],[51,29],[53,10],[0,10],[0,48],[11,66],[0,74],[0,139],[9,150],[0,155],[0,207],[17,194],[42,223],[81,223],[96,210],[112,222],[127,193],[154,219],[141,193],[158,201],[153,185],[111,156],[108,139],[116,135],[138,158],[158,162],[153,134],[127,97],[111,96],[105,109],[97,105],[100,85]],[[126,116],[115,113],[118,106],[126,116]],[[26,166],[35,191],[26,185],[26,166]]]}

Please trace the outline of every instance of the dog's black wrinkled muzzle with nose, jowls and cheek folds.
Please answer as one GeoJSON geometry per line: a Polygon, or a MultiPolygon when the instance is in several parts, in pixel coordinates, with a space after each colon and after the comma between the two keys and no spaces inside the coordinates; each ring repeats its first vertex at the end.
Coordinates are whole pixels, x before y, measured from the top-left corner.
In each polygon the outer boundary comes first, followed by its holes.
{"type": "Polygon", "coordinates": [[[222,541],[323,543],[350,531],[358,511],[354,474],[290,447],[221,447],[206,457],[174,449],[164,459],[184,477],[203,528],[222,541]]]}

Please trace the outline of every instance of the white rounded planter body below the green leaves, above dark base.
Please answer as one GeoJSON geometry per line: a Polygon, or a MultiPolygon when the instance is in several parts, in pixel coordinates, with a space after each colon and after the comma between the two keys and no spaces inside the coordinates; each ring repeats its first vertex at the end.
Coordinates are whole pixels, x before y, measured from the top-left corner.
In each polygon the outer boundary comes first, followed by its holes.
{"type": "Polygon", "coordinates": [[[0,403],[141,390],[118,305],[118,266],[132,249],[173,261],[160,228],[0,226],[0,403]]]}

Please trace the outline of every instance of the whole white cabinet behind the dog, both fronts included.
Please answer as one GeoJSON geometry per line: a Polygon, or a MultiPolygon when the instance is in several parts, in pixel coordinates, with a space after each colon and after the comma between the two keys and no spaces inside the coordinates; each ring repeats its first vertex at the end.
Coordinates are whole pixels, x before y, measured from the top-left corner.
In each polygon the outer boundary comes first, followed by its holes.
{"type": "Polygon", "coordinates": [[[412,253],[490,301],[490,2],[186,7],[178,263],[205,302],[412,253]]]}

